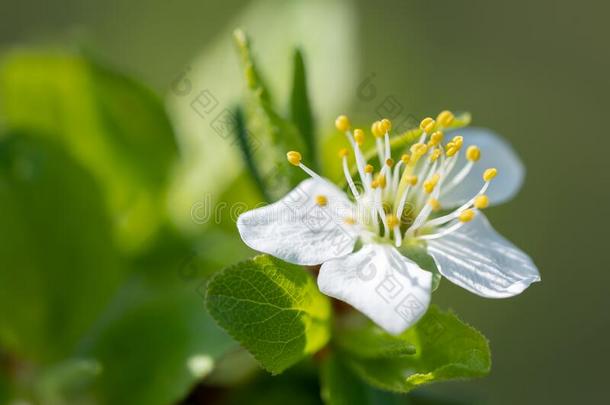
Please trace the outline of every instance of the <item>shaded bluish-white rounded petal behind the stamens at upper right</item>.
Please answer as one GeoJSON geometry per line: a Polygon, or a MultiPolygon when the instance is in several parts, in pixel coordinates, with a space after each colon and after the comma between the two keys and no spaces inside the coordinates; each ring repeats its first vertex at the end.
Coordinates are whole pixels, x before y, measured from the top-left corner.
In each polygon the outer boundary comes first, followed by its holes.
{"type": "Polygon", "coordinates": [[[460,152],[460,160],[451,172],[452,175],[459,173],[466,164],[464,153],[468,146],[478,146],[481,149],[481,159],[474,164],[468,176],[458,186],[448,191],[446,195],[441,194],[443,207],[457,207],[472,198],[483,186],[483,172],[490,167],[498,169],[498,175],[492,180],[485,193],[489,197],[490,204],[501,204],[517,194],[523,184],[525,168],[506,140],[484,128],[451,131],[446,138],[449,139],[454,135],[464,137],[464,146],[460,152]]]}

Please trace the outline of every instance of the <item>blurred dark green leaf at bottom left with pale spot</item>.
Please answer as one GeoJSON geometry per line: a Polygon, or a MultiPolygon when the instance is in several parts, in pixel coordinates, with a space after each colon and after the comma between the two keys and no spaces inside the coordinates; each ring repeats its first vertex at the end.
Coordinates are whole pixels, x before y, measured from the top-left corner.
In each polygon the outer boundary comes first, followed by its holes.
{"type": "Polygon", "coordinates": [[[79,348],[102,366],[101,403],[176,403],[238,347],[205,310],[205,258],[163,236],[132,263],[135,273],[79,348]]]}

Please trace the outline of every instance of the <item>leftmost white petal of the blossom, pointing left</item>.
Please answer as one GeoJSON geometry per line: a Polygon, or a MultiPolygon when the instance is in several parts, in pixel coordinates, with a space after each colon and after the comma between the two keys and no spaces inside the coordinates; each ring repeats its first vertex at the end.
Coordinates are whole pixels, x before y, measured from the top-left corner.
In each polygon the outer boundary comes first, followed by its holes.
{"type": "Polygon", "coordinates": [[[281,200],[245,212],[237,219],[243,241],[254,250],[290,263],[317,265],[354,250],[353,215],[346,194],[324,180],[307,179],[281,200]],[[327,198],[326,206],[316,196],[327,198]]]}

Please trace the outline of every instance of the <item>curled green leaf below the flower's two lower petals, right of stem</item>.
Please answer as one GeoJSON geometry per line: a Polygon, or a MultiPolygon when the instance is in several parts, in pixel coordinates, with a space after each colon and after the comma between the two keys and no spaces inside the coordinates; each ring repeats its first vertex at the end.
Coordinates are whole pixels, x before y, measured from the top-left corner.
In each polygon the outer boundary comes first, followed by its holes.
{"type": "Polygon", "coordinates": [[[415,345],[415,355],[351,356],[348,365],[369,384],[397,392],[438,381],[481,377],[491,368],[487,339],[453,313],[434,306],[400,338],[415,345]]]}

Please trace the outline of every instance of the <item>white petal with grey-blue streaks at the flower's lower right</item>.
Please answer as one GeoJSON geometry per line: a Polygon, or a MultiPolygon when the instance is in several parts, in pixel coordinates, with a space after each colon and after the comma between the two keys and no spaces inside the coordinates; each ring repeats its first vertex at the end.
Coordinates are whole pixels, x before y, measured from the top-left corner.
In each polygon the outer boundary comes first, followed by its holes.
{"type": "Polygon", "coordinates": [[[440,273],[477,295],[506,298],[540,281],[532,259],[497,233],[481,212],[447,236],[428,241],[440,273]]]}

